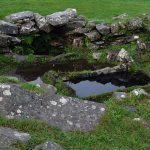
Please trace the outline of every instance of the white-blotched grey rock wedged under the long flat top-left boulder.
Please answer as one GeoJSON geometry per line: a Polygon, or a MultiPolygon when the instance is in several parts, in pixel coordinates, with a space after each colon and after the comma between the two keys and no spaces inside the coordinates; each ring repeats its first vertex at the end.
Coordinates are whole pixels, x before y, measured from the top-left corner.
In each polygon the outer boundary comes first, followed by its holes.
{"type": "Polygon", "coordinates": [[[38,29],[35,27],[35,22],[30,21],[22,24],[19,32],[20,34],[30,34],[32,32],[38,32],[38,29]]]}

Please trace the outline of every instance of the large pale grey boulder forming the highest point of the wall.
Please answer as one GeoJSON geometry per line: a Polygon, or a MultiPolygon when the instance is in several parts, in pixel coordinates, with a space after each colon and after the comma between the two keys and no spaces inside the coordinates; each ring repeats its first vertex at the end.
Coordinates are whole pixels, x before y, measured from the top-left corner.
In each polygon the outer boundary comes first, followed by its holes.
{"type": "Polygon", "coordinates": [[[77,16],[76,9],[66,9],[46,16],[47,22],[52,26],[62,26],[77,16]]]}

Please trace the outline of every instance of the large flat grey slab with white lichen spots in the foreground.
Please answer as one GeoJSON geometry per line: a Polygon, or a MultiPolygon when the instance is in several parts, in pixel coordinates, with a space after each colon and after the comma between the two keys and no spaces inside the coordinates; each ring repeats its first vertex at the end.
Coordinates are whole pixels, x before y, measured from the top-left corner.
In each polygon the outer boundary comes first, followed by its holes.
{"type": "Polygon", "coordinates": [[[0,84],[0,114],[36,118],[64,131],[90,131],[100,123],[105,105],[71,97],[37,95],[19,85],[0,84]]]}

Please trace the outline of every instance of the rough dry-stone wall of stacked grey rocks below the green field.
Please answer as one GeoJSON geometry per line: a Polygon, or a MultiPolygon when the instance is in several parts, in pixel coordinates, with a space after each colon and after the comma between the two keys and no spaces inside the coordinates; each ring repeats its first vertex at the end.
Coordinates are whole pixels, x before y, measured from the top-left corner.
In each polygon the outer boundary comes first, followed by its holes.
{"type": "Polygon", "coordinates": [[[146,14],[131,20],[122,14],[113,20],[114,23],[109,24],[87,21],[77,15],[76,9],[66,9],[47,16],[31,11],[11,14],[0,21],[0,53],[9,52],[10,46],[20,44],[19,35],[33,33],[46,33],[49,36],[55,33],[56,36],[61,36],[61,40],[50,41],[50,45],[55,47],[73,45],[97,50],[108,43],[132,42],[137,39],[135,34],[139,31],[149,32],[146,24],[149,16],[146,14]]]}

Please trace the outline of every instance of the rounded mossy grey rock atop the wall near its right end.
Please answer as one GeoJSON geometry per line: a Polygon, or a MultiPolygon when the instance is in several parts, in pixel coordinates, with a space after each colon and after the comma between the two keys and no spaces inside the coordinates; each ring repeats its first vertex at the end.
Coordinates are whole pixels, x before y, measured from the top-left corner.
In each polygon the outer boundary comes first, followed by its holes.
{"type": "Polygon", "coordinates": [[[134,18],[128,22],[127,25],[129,30],[139,30],[143,28],[143,21],[141,18],[134,18]]]}

